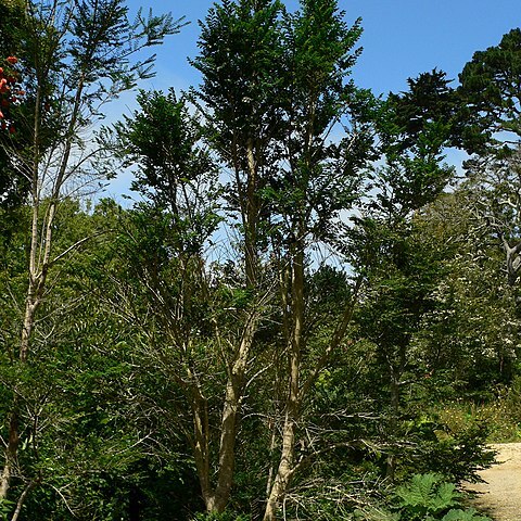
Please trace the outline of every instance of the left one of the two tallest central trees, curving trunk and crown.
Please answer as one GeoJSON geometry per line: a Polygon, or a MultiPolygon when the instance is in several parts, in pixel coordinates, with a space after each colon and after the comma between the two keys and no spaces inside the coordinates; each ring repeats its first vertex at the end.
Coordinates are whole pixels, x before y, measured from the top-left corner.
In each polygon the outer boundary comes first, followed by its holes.
{"type": "MultiPolygon", "coordinates": [[[[203,76],[195,96],[204,105],[209,142],[230,169],[227,211],[238,224],[243,290],[249,295],[242,333],[226,360],[215,487],[204,480],[209,511],[224,510],[231,491],[246,369],[269,292],[260,267],[269,223],[262,193],[279,158],[275,140],[282,130],[282,11],[278,0],[225,0],[215,5],[202,24],[201,52],[192,62],[203,76]]],[[[201,456],[200,474],[208,467],[209,454],[201,456]]]]}

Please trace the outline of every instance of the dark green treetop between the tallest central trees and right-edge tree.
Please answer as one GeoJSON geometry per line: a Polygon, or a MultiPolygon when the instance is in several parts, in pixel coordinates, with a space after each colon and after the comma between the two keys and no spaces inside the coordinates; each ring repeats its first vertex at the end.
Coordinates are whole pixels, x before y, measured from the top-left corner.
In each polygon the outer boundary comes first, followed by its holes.
{"type": "Polygon", "coordinates": [[[377,113],[385,163],[370,176],[370,188],[378,192],[369,206],[390,219],[433,201],[454,175],[443,163],[445,148],[459,132],[459,102],[448,82],[445,73],[435,69],[409,78],[409,90],[391,93],[377,113]]]}

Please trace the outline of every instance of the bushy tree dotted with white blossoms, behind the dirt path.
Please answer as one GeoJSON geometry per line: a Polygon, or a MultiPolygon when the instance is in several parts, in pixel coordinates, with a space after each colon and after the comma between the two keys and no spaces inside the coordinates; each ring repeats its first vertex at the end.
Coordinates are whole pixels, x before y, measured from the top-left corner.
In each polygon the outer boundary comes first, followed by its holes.
{"type": "Polygon", "coordinates": [[[463,186],[428,205],[416,223],[425,242],[443,247],[443,271],[432,293],[435,306],[418,338],[434,382],[480,393],[491,382],[510,382],[519,335],[517,288],[505,277],[497,238],[476,226],[476,193],[463,186]],[[470,201],[469,201],[470,199],[470,201]],[[442,246],[443,245],[443,246],[442,246]]]}

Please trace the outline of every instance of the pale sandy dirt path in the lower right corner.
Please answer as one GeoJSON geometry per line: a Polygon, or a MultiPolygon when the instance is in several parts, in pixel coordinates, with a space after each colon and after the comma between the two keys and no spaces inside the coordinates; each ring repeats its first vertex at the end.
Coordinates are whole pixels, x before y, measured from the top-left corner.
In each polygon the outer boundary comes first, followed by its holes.
{"type": "Polygon", "coordinates": [[[486,483],[468,485],[482,494],[472,505],[495,521],[521,521],[521,443],[492,445],[498,465],[480,472],[486,483]]]}

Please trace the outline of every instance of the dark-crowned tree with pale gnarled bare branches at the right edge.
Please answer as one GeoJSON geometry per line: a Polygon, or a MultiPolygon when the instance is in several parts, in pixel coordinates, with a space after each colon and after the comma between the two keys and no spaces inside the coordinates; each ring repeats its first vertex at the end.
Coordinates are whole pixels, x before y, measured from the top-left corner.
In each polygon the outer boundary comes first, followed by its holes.
{"type": "Polygon", "coordinates": [[[498,46],[478,51],[459,75],[458,89],[471,114],[471,139],[463,141],[474,153],[467,162],[470,182],[479,193],[474,211],[491,225],[504,249],[510,284],[518,280],[521,242],[520,214],[521,29],[504,35],[498,46]],[[476,136],[481,138],[475,139],[476,136]]]}

